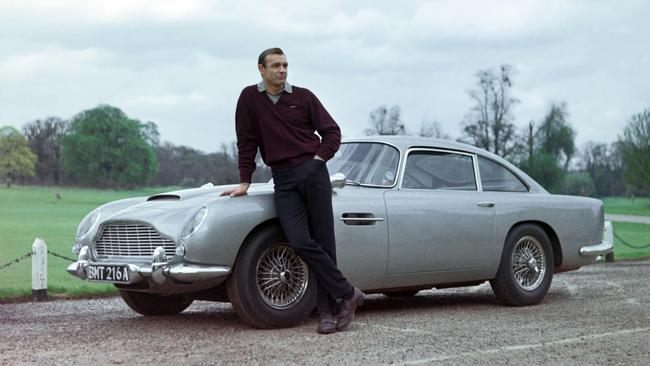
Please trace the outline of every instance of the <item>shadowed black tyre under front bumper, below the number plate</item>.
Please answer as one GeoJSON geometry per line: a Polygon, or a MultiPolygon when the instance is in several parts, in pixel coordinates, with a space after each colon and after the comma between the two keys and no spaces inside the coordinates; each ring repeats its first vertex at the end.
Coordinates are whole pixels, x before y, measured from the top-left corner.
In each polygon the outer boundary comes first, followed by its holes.
{"type": "Polygon", "coordinates": [[[135,312],[151,316],[179,314],[193,301],[179,295],[157,295],[125,290],[120,290],[120,296],[135,312]]]}

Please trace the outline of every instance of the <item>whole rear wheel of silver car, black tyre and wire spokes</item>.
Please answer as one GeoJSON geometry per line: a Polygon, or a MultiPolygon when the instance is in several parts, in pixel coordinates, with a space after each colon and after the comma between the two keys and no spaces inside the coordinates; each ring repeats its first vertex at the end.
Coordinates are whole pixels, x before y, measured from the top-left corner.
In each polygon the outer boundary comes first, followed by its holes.
{"type": "Polygon", "coordinates": [[[508,234],[499,270],[490,285],[506,305],[535,305],[546,296],[554,269],[548,235],[537,225],[524,224],[508,234]]]}

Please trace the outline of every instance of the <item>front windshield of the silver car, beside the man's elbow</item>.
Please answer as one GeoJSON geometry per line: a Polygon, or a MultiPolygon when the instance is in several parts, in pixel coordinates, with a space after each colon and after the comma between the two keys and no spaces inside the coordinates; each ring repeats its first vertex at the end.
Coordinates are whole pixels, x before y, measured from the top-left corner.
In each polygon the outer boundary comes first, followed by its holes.
{"type": "Polygon", "coordinates": [[[360,184],[389,187],[395,184],[399,152],[375,142],[348,142],[327,162],[330,174],[343,173],[360,184]]]}

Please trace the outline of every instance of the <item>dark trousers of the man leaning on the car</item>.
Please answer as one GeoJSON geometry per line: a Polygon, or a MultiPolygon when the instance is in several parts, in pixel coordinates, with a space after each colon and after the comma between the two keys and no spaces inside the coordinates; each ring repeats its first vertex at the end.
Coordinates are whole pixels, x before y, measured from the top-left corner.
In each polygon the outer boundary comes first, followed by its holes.
{"type": "Polygon", "coordinates": [[[289,245],[316,273],[319,314],[334,312],[352,285],[336,267],[332,185],[324,161],[274,169],[275,210],[289,245]]]}

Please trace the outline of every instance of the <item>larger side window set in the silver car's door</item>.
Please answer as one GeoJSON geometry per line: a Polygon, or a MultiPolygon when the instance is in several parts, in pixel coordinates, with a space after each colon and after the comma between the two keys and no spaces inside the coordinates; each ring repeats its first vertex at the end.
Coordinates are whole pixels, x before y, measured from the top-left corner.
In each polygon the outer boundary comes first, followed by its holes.
{"type": "Polygon", "coordinates": [[[472,157],[451,152],[413,151],[406,159],[402,188],[476,191],[472,157]]]}

